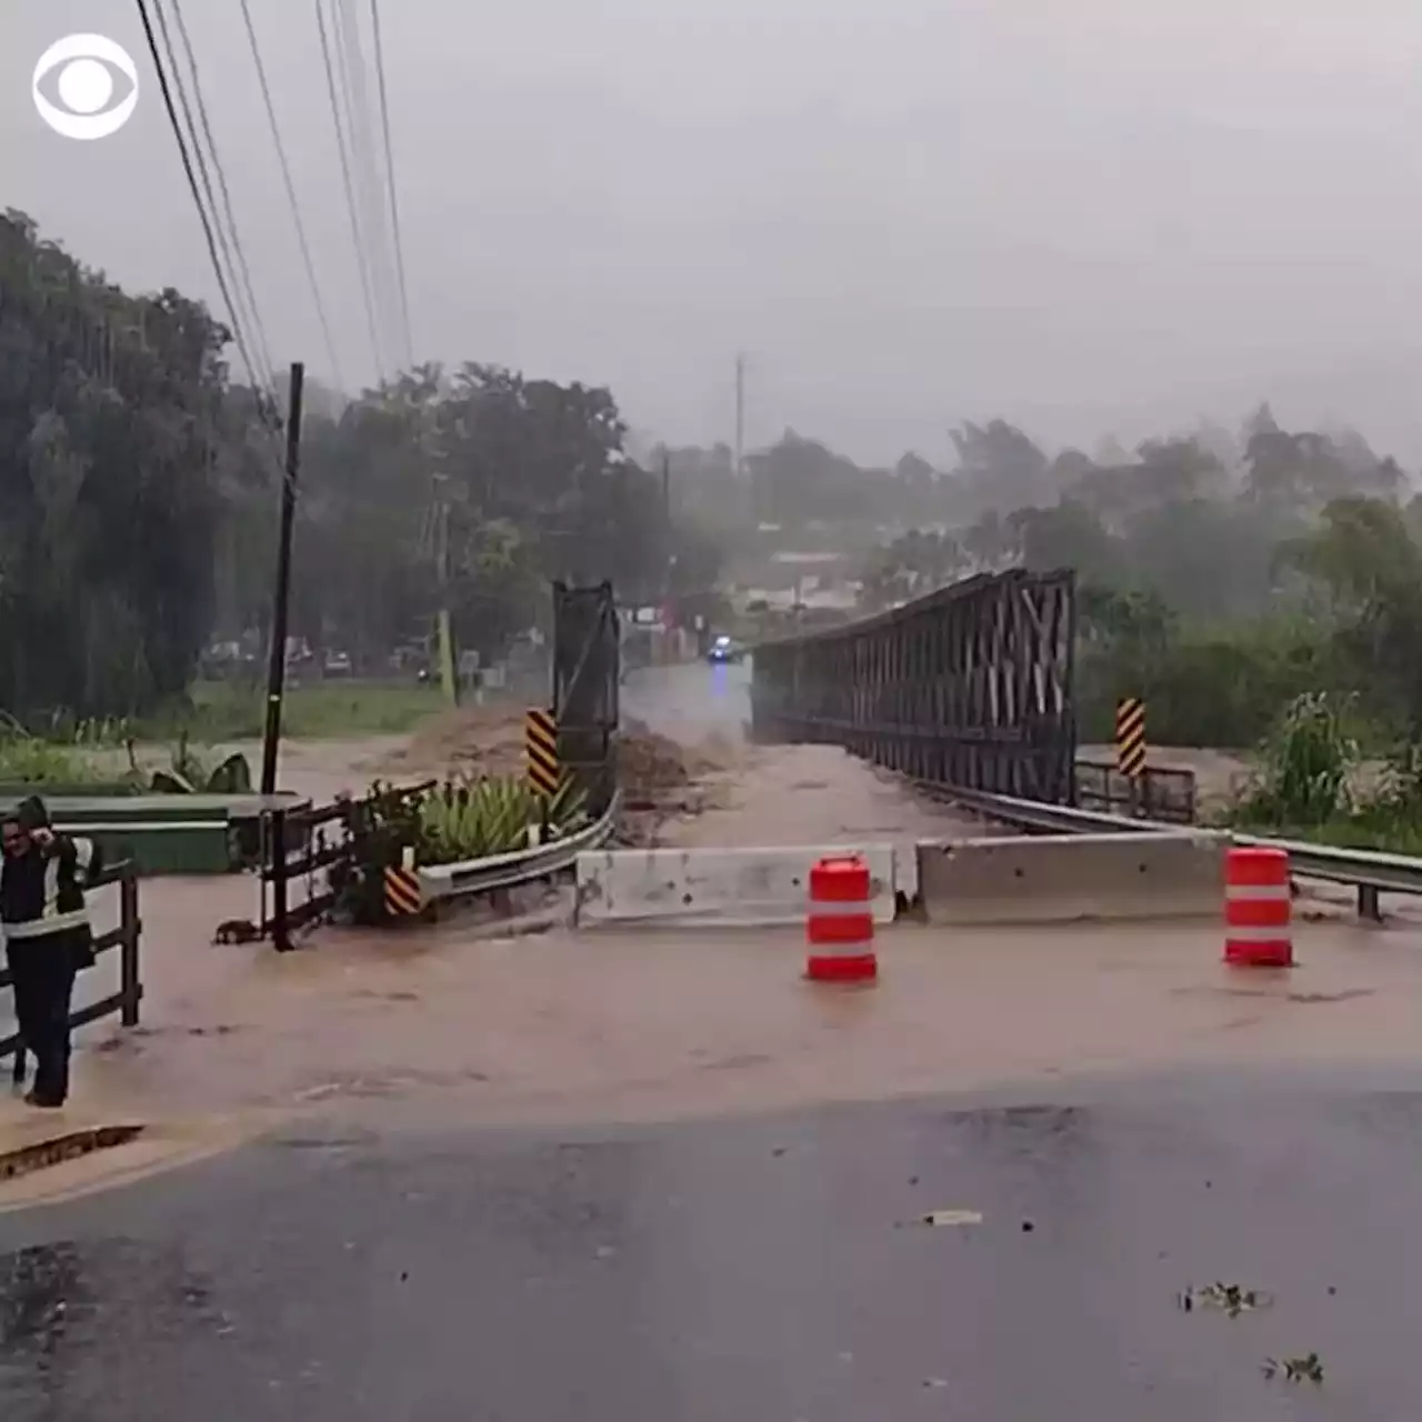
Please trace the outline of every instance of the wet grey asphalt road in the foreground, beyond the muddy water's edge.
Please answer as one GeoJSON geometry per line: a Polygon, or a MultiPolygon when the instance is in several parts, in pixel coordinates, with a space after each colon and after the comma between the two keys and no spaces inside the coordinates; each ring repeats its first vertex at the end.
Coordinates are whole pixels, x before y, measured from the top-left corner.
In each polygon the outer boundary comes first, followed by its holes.
{"type": "Polygon", "coordinates": [[[0,1217],[0,1418],[1416,1416],[1419,1135],[1297,1081],[293,1133],[0,1217]],[[1180,1310],[1214,1280],[1273,1307],[1180,1310]]]}

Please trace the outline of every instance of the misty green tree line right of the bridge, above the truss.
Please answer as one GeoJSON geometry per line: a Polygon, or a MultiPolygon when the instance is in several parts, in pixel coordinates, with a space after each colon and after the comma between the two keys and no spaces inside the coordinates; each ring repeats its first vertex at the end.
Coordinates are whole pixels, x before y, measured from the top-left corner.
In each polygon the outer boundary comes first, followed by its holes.
{"type": "Polygon", "coordinates": [[[1237,437],[1150,439],[1111,462],[1048,459],[993,428],[968,432],[950,476],[975,516],[876,549],[866,607],[973,572],[1072,567],[1088,739],[1109,739],[1132,695],[1156,744],[1247,747],[1321,690],[1376,742],[1422,737],[1422,501],[1395,459],[1355,431],[1287,431],[1267,405],[1237,437]]]}

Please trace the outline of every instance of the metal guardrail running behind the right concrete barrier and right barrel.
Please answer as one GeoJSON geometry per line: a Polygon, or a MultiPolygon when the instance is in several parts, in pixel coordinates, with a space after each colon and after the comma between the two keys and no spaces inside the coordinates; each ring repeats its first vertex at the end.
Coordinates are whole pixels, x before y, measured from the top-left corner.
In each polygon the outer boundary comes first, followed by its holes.
{"type": "MultiPolygon", "coordinates": [[[[957,789],[929,781],[914,781],[914,786],[934,799],[951,801],[987,819],[997,819],[1022,829],[1051,835],[1180,833],[1183,826],[1153,819],[1132,819],[1125,815],[1105,815],[1099,811],[1076,809],[1071,805],[1045,805],[991,795],[985,791],[957,789]]],[[[1345,884],[1358,890],[1358,914],[1381,920],[1382,893],[1415,894],[1422,897],[1422,859],[1389,855],[1375,849],[1342,849],[1334,845],[1311,845],[1297,839],[1270,839],[1263,835],[1233,835],[1237,845],[1268,845],[1288,855],[1290,870],[1297,879],[1318,879],[1324,883],[1345,884]]]]}

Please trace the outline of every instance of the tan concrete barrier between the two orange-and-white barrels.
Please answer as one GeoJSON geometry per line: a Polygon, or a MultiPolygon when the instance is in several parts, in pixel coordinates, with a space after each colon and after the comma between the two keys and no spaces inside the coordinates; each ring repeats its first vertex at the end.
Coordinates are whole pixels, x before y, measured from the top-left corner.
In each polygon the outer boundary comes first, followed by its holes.
{"type": "Polygon", "coordinates": [[[1203,830],[921,843],[921,903],[930,923],[1219,919],[1229,843],[1203,830]]]}

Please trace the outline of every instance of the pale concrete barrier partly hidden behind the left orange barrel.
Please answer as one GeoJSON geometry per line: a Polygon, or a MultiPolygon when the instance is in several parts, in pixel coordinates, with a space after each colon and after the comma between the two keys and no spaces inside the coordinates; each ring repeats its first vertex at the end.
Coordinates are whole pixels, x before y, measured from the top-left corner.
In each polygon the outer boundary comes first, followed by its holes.
{"type": "MultiPolygon", "coordinates": [[[[892,845],[587,850],[577,856],[577,923],[799,924],[809,902],[811,865],[825,855],[849,853],[869,863],[875,923],[892,923],[897,886],[892,845]]],[[[914,857],[913,846],[907,853],[914,857]]]]}

